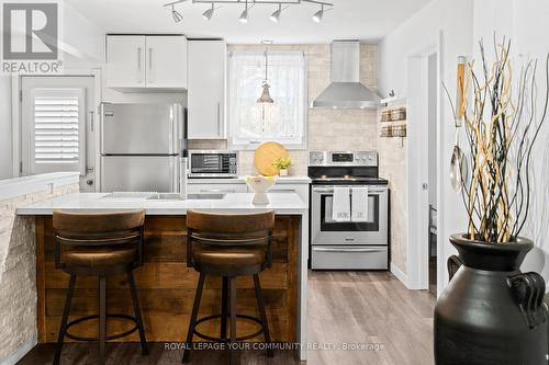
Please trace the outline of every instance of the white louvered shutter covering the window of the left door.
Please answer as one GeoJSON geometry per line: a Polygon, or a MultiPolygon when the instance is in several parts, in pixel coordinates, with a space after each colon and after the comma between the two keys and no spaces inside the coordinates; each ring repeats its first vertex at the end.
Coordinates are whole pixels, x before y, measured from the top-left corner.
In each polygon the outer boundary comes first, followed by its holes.
{"type": "Polygon", "coordinates": [[[83,171],[82,89],[35,89],[31,146],[32,172],[83,171]]]}

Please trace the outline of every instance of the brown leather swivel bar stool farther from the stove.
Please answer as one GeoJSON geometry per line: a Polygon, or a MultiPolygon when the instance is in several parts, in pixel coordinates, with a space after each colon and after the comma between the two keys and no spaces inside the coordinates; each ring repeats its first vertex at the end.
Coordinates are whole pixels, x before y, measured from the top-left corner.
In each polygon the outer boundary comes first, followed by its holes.
{"type": "Polygon", "coordinates": [[[55,266],[70,274],[54,364],[59,364],[65,337],[77,341],[99,341],[99,364],[105,363],[105,342],[139,331],[142,354],[148,354],[137,290],[132,271],[143,264],[144,210],[78,214],[54,210],[55,266]],[[126,274],[135,317],[107,312],[105,277],[126,274]],[[68,321],[77,275],[99,280],[99,315],[68,321]],[[99,337],[71,334],[70,327],[99,318],[99,337]],[[130,320],[132,329],[107,334],[107,318],[130,320]]]}

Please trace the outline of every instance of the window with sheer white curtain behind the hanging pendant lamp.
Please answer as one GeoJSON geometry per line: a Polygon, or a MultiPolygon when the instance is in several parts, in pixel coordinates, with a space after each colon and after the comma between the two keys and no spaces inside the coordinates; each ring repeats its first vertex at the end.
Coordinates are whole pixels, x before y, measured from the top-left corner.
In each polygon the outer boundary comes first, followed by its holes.
{"type": "Polygon", "coordinates": [[[228,65],[229,146],[255,148],[276,140],[306,148],[306,69],[300,50],[268,52],[268,82],[273,104],[257,104],[265,79],[265,52],[235,50],[228,65]]]}

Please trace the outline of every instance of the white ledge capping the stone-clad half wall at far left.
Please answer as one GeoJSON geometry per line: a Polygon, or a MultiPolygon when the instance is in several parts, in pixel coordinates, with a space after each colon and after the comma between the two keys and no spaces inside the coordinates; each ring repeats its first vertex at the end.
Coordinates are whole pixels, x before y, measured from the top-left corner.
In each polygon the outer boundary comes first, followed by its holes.
{"type": "Polygon", "coordinates": [[[54,186],[78,183],[78,172],[53,172],[0,180],[0,201],[36,191],[53,190],[54,186]]]}

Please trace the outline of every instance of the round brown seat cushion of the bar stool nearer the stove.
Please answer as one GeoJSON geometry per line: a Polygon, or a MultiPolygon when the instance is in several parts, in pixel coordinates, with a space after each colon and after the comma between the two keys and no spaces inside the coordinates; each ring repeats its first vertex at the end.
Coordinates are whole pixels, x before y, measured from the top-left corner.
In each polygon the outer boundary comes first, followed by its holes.
{"type": "Polygon", "coordinates": [[[198,265],[213,265],[220,269],[257,266],[266,260],[265,248],[255,247],[220,248],[219,246],[197,244],[192,253],[194,263],[198,265]]]}

